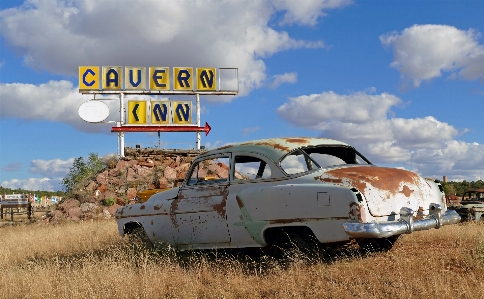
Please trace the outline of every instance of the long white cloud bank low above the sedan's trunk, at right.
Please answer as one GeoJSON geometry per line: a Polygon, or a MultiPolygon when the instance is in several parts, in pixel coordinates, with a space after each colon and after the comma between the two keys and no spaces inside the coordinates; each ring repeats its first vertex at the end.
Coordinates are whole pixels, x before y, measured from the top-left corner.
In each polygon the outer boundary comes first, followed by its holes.
{"type": "Polygon", "coordinates": [[[402,100],[368,92],[303,95],[289,99],[277,112],[296,127],[355,146],[373,163],[399,163],[434,178],[484,178],[479,170],[484,169],[484,145],[454,140],[460,132],[432,116],[393,117],[391,109],[402,100]]]}

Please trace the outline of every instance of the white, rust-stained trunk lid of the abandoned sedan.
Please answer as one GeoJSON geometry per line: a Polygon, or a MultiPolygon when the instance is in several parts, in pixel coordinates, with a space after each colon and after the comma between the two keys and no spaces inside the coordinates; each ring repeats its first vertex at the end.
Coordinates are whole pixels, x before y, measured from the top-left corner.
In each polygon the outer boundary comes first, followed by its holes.
{"type": "Polygon", "coordinates": [[[423,213],[431,203],[441,204],[444,196],[436,183],[416,173],[374,165],[333,168],[316,179],[358,189],[373,216],[399,214],[402,207],[423,213]]]}

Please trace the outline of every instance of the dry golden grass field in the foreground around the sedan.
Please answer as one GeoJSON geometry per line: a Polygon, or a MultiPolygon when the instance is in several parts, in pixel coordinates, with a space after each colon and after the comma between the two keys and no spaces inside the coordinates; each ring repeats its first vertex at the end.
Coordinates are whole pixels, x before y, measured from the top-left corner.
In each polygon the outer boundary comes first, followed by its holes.
{"type": "Polygon", "coordinates": [[[0,228],[2,298],[482,298],[484,225],[405,235],[386,253],[270,257],[152,252],[114,221],[0,228]]]}

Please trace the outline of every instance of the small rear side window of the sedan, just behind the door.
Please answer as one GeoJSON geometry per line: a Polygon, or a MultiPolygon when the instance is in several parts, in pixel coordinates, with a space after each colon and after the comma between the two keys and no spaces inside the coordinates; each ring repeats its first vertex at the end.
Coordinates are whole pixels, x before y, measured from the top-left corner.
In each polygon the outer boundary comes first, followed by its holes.
{"type": "Polygon", "coordinates": [[[235,180],[265,179],[271,176],[271,169],[264,160],[251,156],[236,156],[235,180]]]}

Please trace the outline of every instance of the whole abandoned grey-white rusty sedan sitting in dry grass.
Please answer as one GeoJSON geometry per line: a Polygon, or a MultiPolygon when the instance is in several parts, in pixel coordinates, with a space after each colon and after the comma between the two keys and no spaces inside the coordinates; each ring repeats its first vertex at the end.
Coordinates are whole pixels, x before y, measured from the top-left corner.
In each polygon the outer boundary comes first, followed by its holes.
{"type": "Polygon", "coordinates": [[[122,236],[141,232],[177,250],[350,242],[385,250],[401,234],[460,221],[437,182],[374,166],[348,144],[323,138],[208,151],[180,187],[121,207],[116,219],[122,236]]]}

